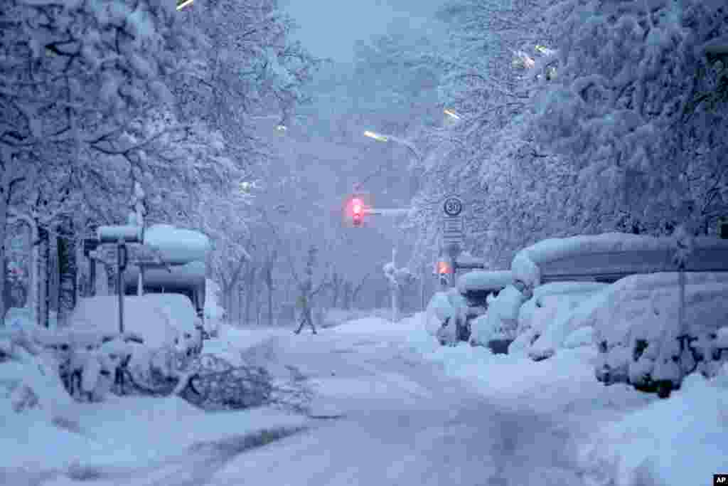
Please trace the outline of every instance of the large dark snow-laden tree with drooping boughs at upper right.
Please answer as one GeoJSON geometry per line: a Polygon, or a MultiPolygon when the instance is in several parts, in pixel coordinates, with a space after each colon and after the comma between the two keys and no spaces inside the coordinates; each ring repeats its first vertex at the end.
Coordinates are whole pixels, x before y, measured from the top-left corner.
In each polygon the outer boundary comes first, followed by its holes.
{"type": "MultiPolygon", "coordinates": [[[[726,211],[728,22],[722,1],[561,1],[550,12],[558,76],[531,124],[575,174],[581,217],[651,232],[694,200],[726,211]]],[[[578,217],[578,216],[577,216],[578,217]]]]}

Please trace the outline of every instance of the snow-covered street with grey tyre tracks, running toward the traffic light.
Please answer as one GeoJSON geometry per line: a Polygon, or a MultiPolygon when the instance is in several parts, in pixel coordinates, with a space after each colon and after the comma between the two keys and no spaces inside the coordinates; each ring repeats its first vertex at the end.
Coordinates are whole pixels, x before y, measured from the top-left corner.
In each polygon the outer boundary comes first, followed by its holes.
{"type": "MultiPolygon", "coordinates": [[[[208,484],[581,485],[563,423],[489,403],[408,348],[404,332],[274,337],[246,358],[296,367],[312,428],[229,460],[208,484]]],[[[516,378],[517,379],[517,378],[516,378]]]]}

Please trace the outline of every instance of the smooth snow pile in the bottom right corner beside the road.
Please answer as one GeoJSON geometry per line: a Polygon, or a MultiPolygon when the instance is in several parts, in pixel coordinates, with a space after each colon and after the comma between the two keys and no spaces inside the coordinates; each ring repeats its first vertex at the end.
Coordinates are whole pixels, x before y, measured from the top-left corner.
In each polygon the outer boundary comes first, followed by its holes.
{"type": "Polygon", "coordinates": [[[712,380],[690,375],[669,400],[601,427],[580,462],[595,485],[708,485],[727,470],[726,436],[728,364],[712,380]]]}

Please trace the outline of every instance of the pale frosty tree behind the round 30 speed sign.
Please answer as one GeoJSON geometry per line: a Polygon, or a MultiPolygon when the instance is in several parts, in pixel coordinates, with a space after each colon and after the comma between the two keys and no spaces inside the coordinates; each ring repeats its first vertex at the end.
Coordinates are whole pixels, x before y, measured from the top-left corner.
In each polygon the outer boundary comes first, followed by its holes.
{"type": "Polygon", "coordinates": [[[440,59],[440,102],[457,118],[430,129],[434,143],[417,166],[423,184],[412,202],[416,259],[434,260],[441,204],[451,193],[465,203],[465,249],[488,267],[504,268],[517,248],[563,231],[563,205],[555,201],[568,194],[569,173],[539,152],[524,128],[531,97],[547,81],[532,74],[552,55],[550,33],[539,23],[546,4],[463,0],[441,9],[451,39],[440,59]]]}

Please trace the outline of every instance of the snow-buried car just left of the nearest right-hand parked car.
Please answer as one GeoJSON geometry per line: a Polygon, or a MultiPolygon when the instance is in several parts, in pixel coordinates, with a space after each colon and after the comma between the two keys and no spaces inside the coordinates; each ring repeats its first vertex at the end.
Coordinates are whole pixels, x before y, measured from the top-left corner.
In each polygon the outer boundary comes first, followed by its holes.
{"type": "Polygon", "coordinates": [[[517,337],[509,353],[526,352],[535,360],[552,356],[558,348],[591,345],[589,330],[574,327],[571,314],[607,283],[566,281],[546,283],[533,291],[533,297],[521,306],[517,337]],[[577,332],[573,338],[571,334],[577,332]]]}

